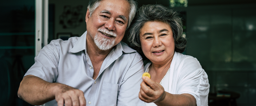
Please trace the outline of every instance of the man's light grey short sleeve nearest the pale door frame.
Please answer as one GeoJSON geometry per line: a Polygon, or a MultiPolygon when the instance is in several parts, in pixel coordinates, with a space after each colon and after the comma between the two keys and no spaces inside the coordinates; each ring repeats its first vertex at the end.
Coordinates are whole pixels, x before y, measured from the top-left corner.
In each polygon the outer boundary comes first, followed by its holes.
{"type": "Polygon", "coordinates": [[[43,47],[35,57],[35,63],[26,72],[26,75],[35,75],[48,82],[55,82],[57,78],[57,67],[59,60],[59,43],[53,40],[43,47]]]}

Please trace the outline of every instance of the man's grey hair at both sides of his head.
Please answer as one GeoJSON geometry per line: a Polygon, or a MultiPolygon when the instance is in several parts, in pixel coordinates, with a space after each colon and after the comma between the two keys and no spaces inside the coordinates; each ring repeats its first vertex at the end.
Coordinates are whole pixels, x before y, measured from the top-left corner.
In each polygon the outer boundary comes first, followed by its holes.
{"type": "MultiPolygon", "coordinates": [[[[90,12],[90,17],[91,14],[93,13],[94,10],[96,10],[97,7],[99,7],[100,5],[100,1],[101,0],[90,0],[89,4],[88,4],[88,9],[90,12]]],[[[126,0],[129,4],[130,4],[130,13],[129,13],[129,20],[128,20],[128,25],[126,30],[129,28],[131,21],[133,20],[136,10],[137,10],[137,2],[133,1],[133,0],[126,0]]]]}

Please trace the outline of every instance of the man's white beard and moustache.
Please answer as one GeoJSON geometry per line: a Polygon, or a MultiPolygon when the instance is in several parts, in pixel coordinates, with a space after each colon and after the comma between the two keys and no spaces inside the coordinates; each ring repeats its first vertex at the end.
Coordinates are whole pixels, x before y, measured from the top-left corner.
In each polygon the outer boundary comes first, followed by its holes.
{"type": "MultiPolygon", "coordinates": [[[[102,32],[105,31],[104,33],[110,34],[106,30],[98,29],[98,31],[102,31],[102,32]]],[[[111,33],[111,35],[112,35],[112,33],[111,33]]],[[[114,36],[116,37],[116,34],[114,36]]],[[[96,44],[96,46],[102,51],[106,51],[106,50],[111,49],[115,44],[115,38],[108,39],[108,38],[105,38],[105,37],[99,37],[98,33],[96,33],[93,40],[94,40],[94,43],[96,44]]]]}

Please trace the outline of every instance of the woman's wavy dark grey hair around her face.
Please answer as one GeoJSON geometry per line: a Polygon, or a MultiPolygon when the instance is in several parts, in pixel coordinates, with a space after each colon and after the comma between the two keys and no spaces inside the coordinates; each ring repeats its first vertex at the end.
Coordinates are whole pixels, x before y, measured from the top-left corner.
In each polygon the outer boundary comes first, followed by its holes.
{"type": "Polygon", "coordinates": [[[182,53],[186,48],[187,40],[182,37],[182,19],[179,17],[179,13],[164,7],[163,5],[143,5],[137,11],[135,19],[128,31],[129,45],[135,49],[145,59],[145,55],[142,52],[139,33],[141,28],[146,22],[149,21],[162,21],[169,24],[173,32],[173,38],[175,43],[174,51],[182,53]]]}

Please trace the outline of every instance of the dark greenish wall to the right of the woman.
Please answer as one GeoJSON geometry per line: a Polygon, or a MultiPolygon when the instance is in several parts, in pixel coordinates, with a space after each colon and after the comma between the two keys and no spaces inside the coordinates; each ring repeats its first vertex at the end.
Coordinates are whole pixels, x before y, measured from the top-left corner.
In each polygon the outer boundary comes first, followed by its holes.
{"type": "Polygon", "coordinates": [[[186,13],[186,54],[196,57],[208,74],[210,93],[240,94],[239,106],[256,104],[255,4],[174,8],[186,13]]]}

